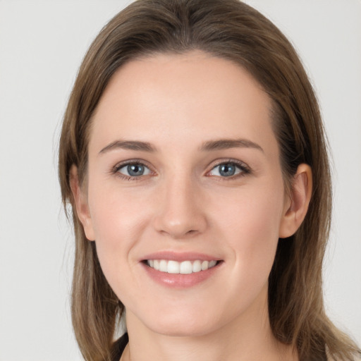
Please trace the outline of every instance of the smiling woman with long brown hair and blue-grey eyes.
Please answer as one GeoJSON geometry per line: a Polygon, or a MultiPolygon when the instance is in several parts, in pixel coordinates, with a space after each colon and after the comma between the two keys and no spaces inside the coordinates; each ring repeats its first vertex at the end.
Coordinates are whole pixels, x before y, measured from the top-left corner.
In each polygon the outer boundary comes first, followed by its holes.
{"type": "Polygon", "coordinates": [[[121,11],[80,67],[59,175],[86,360],[360,353],[324,313],[331,183],[317,101],[293,47],[250,6],[121,11]]]}

